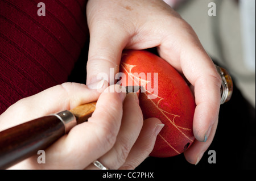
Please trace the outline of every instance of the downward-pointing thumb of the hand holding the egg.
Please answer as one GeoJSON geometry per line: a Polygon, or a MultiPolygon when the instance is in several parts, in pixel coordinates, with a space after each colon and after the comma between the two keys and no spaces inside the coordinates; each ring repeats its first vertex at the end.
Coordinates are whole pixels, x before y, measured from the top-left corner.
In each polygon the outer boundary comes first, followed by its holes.
{"type": "MultiPolygon", "coordinates": [[[[91,2],[88,2],[87,7],[93,8],[90,6],[91,2]]],[[[124,22],[121,19],[117,19],[115,14],[113,17],[110,16],[113,13],[108,13],[109,10],[106,10],[104,5],[97,6],[96,11],[101,11],[100,17],[87,14],[90,43],[86,83],[92,83],[97,79],[105,79],[112,85],[114,83],[114,75],[119,71],[122,50],[127,44],[129,33],[123,27],[124,22]],[[104,19],[104,14],[108,16],[108,23],[104,19]]],[[[115,9],[113,11],[118,10],[115,9]]]]}

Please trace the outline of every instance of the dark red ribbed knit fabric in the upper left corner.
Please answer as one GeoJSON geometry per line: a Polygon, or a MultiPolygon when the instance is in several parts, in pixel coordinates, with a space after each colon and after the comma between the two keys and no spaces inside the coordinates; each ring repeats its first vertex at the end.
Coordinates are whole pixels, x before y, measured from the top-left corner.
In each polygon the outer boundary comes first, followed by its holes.
{"type": "Polygon", "coordinates": [[[86,0],[0,0],[0,115],[67,81],[85,44],[86,0]],[[46,16],[38,16],[38,3],[46,16]]]}

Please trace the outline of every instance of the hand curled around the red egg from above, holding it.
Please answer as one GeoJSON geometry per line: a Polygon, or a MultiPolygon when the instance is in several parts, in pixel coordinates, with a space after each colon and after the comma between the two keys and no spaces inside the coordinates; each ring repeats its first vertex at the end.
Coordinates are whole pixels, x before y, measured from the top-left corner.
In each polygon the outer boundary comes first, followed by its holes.
{"type": "Polygon", "coordinates": [[[99,73],[109,75],[110,68],[118,73],[123,49],[151,47],[191,83],[196,141],[184,155],[188,162],[198,163],[217,128],[221,78],[191,26],[162,0],[89,0],[86,15],[87,83],[96,81],[99,73]]]}

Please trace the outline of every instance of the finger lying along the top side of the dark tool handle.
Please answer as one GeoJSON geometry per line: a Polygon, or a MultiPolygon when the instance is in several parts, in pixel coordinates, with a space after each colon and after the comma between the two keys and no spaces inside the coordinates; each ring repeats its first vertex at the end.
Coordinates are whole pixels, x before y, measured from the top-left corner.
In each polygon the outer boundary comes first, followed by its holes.
{"type": "Polygon", "coordinates": [[[1,129],[10,128],[50,113],[70,110],[80,104],[93,102],[98,99],[105,87],[106,81],[96,82],[94,85],[88,86],[68,82],[20,99],[0,116],[1,129]]]}

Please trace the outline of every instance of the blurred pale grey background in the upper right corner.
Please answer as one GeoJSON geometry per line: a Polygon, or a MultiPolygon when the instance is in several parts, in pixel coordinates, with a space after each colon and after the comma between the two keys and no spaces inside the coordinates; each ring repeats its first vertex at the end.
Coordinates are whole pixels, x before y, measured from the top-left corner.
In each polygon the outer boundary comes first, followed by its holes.
{"type": "Polygon", "coordinates": [[[209,56],[229,70],[255,107],[255,0],[164,1],[192,26],[209,56]],[[211,2],[216,16],[208,15],[211,2]]]}

